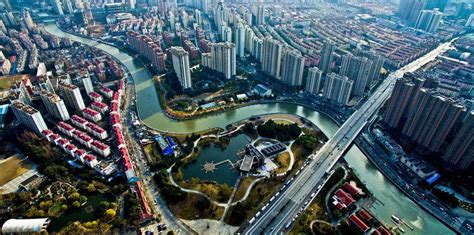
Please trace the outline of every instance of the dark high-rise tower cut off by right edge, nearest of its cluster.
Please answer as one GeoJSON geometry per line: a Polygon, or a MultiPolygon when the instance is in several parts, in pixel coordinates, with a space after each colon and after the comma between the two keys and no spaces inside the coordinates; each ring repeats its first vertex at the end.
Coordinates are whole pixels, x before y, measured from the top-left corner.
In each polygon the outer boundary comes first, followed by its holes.
{"type": "Polygon", "coordinates": [[[448,146],[443,160],[459,169],[467,169],[474,161],[474,111],[467,114],[461,129],[448,146]]]}

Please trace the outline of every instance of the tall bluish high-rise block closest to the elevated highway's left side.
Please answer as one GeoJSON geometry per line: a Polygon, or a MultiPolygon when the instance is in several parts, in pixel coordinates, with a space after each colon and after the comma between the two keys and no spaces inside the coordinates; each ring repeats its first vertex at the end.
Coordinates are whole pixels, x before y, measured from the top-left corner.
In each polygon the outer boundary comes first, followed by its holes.
{"type": "Polygon", "coordinates": [[[342,67],[339,72],[342,76],[347,76],[354,81],[352,95],[362,97],[367,89],[372,61],[365,57],[344,55],[342,58],[342,67]]]}

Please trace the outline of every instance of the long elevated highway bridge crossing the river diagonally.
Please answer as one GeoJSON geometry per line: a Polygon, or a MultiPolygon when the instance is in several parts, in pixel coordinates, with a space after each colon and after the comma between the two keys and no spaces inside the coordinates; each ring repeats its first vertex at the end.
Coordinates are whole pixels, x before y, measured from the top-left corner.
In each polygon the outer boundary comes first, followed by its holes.
{"type": "Polygon", "coordinates": [[[391,73],[367,101],[354,112],[326,144],[310,158],[312,161],[285,183],[284,189],[272,197],[243,229],[244,234],[281,233],[316,197],[336,162],[343,156],[364,126],[390,97],[395,81],[406,72],[413,72],[445,52],[454,41],[443,43],[426,55],[391,73]],[[299,174],[298,174],[299,173],[299,174]],[[314,193],[314,194],[312,194],[314,193]],[[313,197],[310,198],[310,196],[313,197]]]}

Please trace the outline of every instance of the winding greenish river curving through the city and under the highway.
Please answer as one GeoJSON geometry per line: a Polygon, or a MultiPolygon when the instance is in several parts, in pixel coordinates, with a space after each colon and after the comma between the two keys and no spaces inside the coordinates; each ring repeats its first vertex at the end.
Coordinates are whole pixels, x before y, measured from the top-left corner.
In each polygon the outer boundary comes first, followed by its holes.
{"type": "MultiPolygon", "coordinates": [[[[48,32],[58,37],[67,37],[72,41],[101,49],[127,67],[135,82],[138,115],[146,125],[157,130],[189,133],[212,127],[224,128],[236,121],[268,113],[288,113],[305,117],[317,125],[327,136],[332,136],[338,129],[336,123],[326,115],[309,108],[286,103],[257,104],[192,120],[172,120],[163,114],[151,75],[140,60],[116,47],[63,32],[55,24],[48,24],[45,27],[48,32]]],[[[392,214],[397,214],[415,227],[414,231],[405,228],[407,234],[454,234],[385,179],[357,146],[351,147],[344,158],[374,196],[384,203],[383,206],[374,204],[372,211],[386,223],[392,225],[390,217],[392,214]]]]}

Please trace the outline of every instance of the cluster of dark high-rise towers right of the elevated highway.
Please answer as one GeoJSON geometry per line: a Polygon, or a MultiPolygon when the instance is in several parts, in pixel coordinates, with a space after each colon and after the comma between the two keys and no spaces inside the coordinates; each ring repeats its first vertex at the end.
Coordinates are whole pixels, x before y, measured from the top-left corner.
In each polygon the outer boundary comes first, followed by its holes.
{"type": "Polygon", "coordinates": [[[395,84],[383,122],[420,153],[441,154],[455,168],[467,169],[474,159],[474,112],[462,100],[439,92],[437,84],[432,78],[405,75],[395,84]]]}

